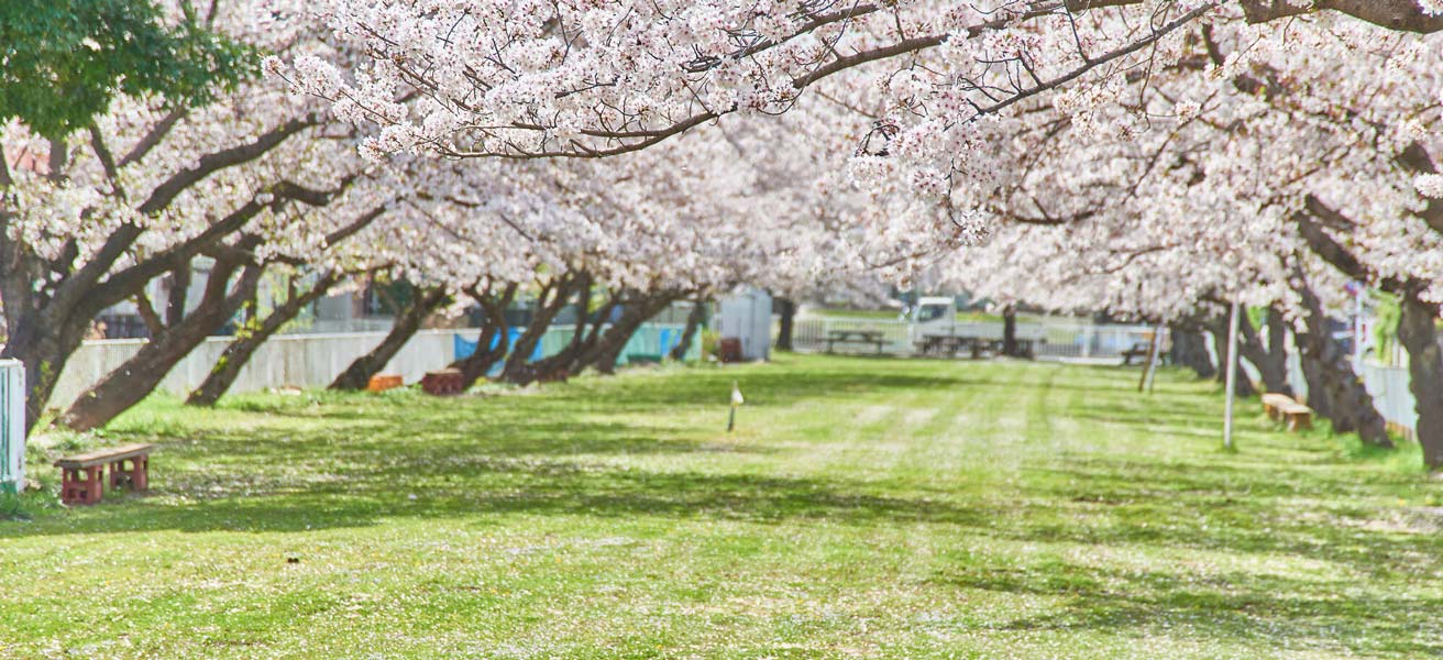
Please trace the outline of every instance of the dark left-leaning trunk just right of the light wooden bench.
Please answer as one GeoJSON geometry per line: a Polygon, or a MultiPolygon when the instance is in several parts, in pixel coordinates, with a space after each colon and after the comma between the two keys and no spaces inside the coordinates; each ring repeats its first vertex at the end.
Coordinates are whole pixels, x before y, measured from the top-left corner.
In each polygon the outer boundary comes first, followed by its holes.
{"type": "MultiPolygon", "coordinates": [[[[1392,440],[1388,439],[1387,423],[1378,414],[1372,394],[1354,371],[1351,357],[1328,331],[1328,316],[1317,296],[1300,274],[1294,276],[1293,287],[1302,298],[1306,311],[1307,332],[1303,335],[1302,349],[1312,355],[1320,367],[1320,384],[1328,396],[1333,430],[1339,433],[1358,432],[1364,443],[1391,448],[1392,440]]],[[[1317,410],[1315,409],[1315,412],[1317,410]]]]}

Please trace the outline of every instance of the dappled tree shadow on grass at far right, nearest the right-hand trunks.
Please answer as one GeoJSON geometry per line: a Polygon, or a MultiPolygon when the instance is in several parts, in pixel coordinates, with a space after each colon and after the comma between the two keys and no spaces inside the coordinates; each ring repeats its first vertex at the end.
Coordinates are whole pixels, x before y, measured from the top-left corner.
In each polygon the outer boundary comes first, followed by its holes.
{"type": "Polygon", "coordinates": [[[1027,472],[1030,497],[1066,504],[994,530],[999,536],[1306,557],[1371,578],[1416,570],[1418,553],[1443,556],[1443,536],[1364,503],[1410,485],[1407,475],[1355,479],[1286,465],[1144,465],[1101,456],[1027,472]]]}

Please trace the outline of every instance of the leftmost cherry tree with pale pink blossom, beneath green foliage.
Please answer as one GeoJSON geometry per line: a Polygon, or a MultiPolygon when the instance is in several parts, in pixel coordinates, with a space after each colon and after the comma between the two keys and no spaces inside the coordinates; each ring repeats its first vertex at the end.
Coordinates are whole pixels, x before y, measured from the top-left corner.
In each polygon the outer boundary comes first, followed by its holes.
{"type": "MultiPolygon", "coordinates": [[[[307,17],[281,6],[214,3],[199,14],[215,30],[283,53],[333,55],[307,40],[307,17]]],[[[291,7],[294,9],[294,7],[291,7]]],[[[63,420],[102,423],[150,391],[169,365],[250,298],[263,264],[291,250],[325,246],[368,217],[317,222],[317,209],[343,195],[364,169],[355,134],[322,105],[270,81],[216,90],[214,103],[175,105],[157,97],[117,97],[79,134],[45,137],[4,126],[0,296],[3,354],[27,374],[27,423],[42,414],[56,378],[91,319],[123,300],[160,319],[162,332],[136,361],[97,384],[63,420]],[[346,165],[351,163],[351,165],[346,165]],[[183,283],[196,260],[212,260],[199,309],[185,309],[183,283]],[[170,276],[176,299],[162,315],[146,285],[170,276]]]]}

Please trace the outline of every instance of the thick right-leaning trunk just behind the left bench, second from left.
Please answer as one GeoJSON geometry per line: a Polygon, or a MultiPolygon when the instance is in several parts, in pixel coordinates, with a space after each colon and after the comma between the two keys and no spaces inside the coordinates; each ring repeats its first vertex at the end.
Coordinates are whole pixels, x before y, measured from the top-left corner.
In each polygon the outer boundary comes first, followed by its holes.
{"type": "Polygon", "coordinates": [[[235,266],[216,263],[211,270],[201,305],[180,324],[166,328],[160,336],[153,336],[136,355],[81,394],[61,416],[59,423],[75,430],[95,429],[150,396],[170,368],[225,325],[254,295],[263,270],[260,266],[247,266],[240,282],[227,293],[235,266]]]}

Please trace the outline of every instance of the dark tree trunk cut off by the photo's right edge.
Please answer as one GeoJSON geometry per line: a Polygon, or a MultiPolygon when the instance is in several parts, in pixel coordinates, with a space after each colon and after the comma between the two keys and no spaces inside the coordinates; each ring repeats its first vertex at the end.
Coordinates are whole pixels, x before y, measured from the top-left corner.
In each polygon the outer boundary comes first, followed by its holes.
{"type": "Polygon", "coordinates": [[[1398,296],[1403,315],[1398,341],[1408,351],[1408,390],[1418,422],[1414,433],[1423,446],[1423,464],[1443,468],[1443,351],[1439,348],[1439,306],[1424,302],[1416,286],[1398,296]]]}

